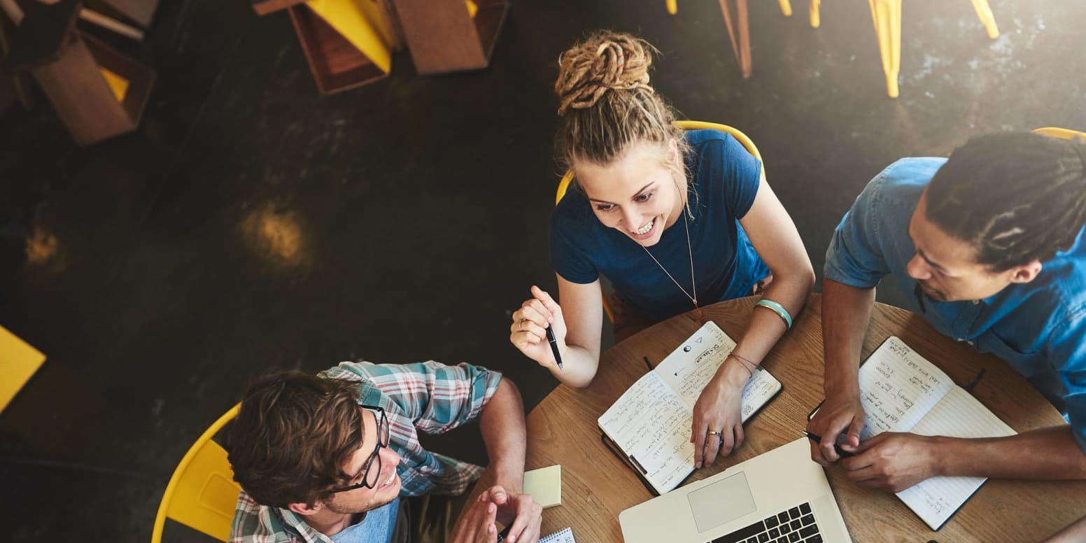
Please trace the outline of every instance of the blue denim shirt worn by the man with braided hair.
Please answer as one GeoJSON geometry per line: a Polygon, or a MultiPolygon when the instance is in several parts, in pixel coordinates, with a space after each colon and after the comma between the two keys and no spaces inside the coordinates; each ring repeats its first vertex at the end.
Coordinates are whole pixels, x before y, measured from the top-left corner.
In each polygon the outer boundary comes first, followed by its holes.
{"type": "MultiPolygon", "coordinates": [[[[908,310],[937,329],[993,353],[1022,374],[1071,422],[1086,452],[1086,241],[1043,263],[1027,283],[1012,283],[984,300],[936,302],[923,307],[906,266],[915,254],[909,219],[946,159],[901,159],[875,176],[833,232],[825,277],[871,288],[893,275],[907,289],[908,310]]],[[[1086,231],[1086,230],[1084,230],[1086,231]]]]}

